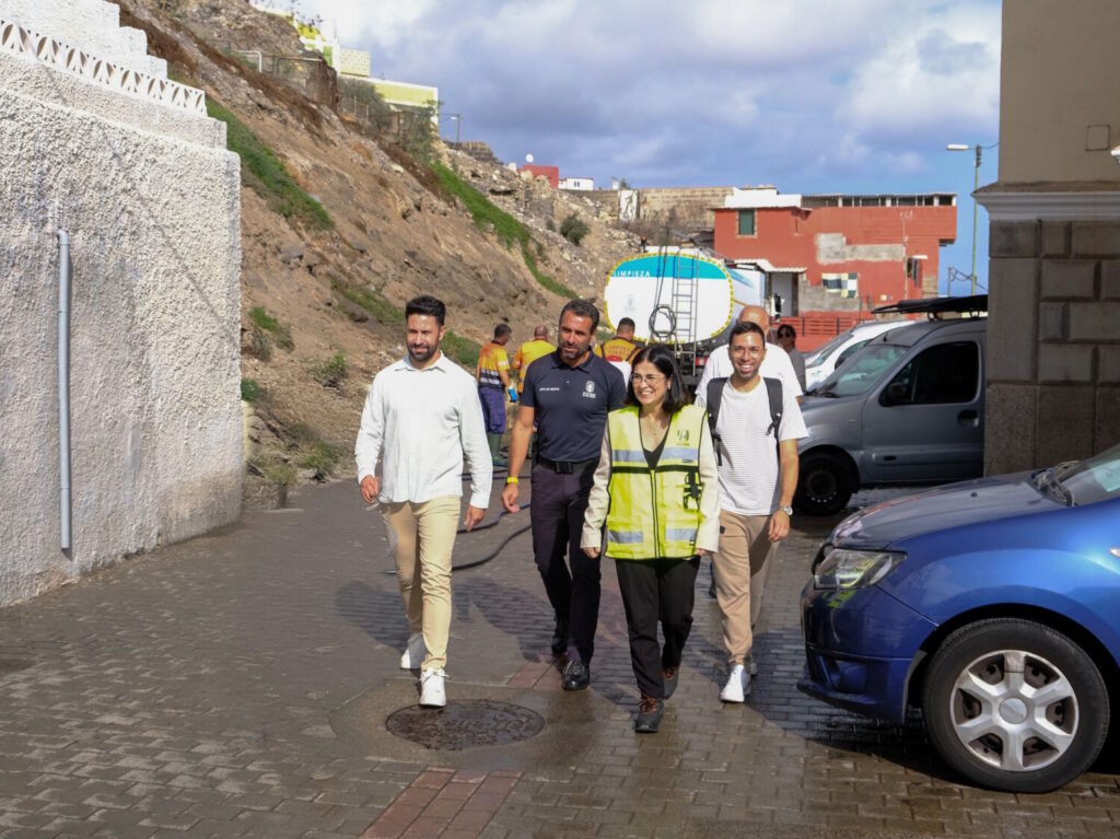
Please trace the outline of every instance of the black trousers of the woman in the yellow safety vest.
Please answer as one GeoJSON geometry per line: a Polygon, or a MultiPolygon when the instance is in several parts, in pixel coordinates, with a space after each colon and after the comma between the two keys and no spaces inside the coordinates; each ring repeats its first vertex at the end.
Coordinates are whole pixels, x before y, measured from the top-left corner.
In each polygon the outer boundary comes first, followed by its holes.
{"type": "Polygon", "coordinates": [[[684,642],[692,631],[692,586],[700,569],[700,557],[691,559],[619,559],[618,590],[626,609],[631,663],[638,690],[662,699],[665,682],[662,671],[681,665],[684,642]],[[665,635],[665,646],[657,643],[657,622],[665,635]]]}

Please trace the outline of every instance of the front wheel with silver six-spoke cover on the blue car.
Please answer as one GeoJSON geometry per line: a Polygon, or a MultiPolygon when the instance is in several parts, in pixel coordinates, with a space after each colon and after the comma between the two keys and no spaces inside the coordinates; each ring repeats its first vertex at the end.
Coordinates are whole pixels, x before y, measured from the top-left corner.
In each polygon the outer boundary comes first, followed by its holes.
{"type": "Polygon", "coordinates": [[[1092,659],[1062,633],[1017,618],[980,621],[945,638],[922,707],[945,762],[1007,792],[1048,792],[1077,777],[1109,728],[1108,689],[1092,659]]]}

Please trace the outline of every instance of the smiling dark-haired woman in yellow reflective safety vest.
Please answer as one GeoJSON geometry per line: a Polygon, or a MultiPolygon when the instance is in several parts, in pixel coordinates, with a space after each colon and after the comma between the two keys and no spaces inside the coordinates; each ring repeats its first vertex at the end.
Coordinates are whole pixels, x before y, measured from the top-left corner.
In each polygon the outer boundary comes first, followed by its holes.
{"type": "Polygon", "coordinates": [[[719,547],[719,477],[707,413],[688,403],[672,352],[642,347],[633,369],[626,405],[607,414],[580,547],[615,560],[642,692],[634,730],[653,733],[680,681],[700,557],[719,547]]]}

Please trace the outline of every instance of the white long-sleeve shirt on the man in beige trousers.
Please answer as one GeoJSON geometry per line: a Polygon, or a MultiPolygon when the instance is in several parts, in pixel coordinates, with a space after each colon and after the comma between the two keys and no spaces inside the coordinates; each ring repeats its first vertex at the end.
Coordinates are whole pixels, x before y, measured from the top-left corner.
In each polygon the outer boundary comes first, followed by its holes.
{"type": "Polygon", "coordinates": [[[358,484],[381,459],[383,503],[422,503],[463,495],[463,456],[470,505],[489,505],[494,464],[474,376],[440,355],[420,370],[405,356],[373,377],[354,445],[358,484]]]}

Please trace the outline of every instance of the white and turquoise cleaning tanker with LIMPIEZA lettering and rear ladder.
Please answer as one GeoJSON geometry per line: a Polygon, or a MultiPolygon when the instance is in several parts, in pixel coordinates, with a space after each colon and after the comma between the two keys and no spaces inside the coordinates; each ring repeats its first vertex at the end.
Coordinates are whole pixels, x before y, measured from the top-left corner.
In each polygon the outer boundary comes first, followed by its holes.
{"type": "Polygon", "coordinates": [[[615,265],[603,300],[612,328],[628,317],[638,343],[672,346],[694,389],[708,354],[727,343],[744,306],[762,305],[764,290],[762,271],[728,268],[697,248],[657,248],[615,265]]]}

